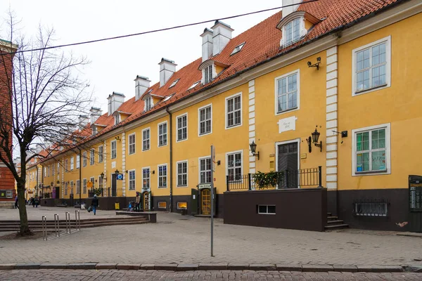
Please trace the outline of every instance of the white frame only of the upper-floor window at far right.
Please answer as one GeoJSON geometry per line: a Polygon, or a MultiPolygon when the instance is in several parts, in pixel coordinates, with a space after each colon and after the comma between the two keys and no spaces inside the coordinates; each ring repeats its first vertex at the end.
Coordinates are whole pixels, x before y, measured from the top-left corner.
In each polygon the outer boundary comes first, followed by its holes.
{"type": "MultiPolygon", "coordinates": [[[[372,56],[369,57],[372,60],[372,56]]],[[[372,65],[371,65],[372,66],[372,65]]],[[[372,72],[369,74],[369,79],[372,79],[372,72]]],[[[371,93],[372,91],[378,91],[381,89],[385,89],[391,86],[391,36],[384,37],[377,41],[373,41],[365,46],[360,46],[359,48],[354,48],[352,50],[352,96],[360,96],[364,93],[371,93]],[[373,88],[369,88],[363,91],[356,92],[356,53],[362,51],[366,48],[371,48],[372,46],[378,45],[385,42],[385,85],[376,86],[373,88]]]]}

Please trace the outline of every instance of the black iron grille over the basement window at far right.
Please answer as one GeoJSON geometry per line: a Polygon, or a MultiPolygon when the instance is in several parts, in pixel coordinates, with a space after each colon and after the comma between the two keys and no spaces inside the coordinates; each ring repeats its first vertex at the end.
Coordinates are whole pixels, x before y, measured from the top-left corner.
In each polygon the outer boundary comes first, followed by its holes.
{"type": "Polygon", "coordinates": [[[390,203],[383,199],[353,200],[354,216],[388,216],[390,203]]]}

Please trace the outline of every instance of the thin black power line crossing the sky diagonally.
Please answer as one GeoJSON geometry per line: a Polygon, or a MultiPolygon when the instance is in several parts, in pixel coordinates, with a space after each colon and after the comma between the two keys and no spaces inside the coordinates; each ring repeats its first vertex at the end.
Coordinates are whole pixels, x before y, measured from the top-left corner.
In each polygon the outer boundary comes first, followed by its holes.
{"type": "Polygon", "coordinates": [[[253,15],[255,13],[263,13],[263,12],[273,11],[273,10],[277,10],[277,9],[280,9],[280,8],[286,8],[286,7],[290,7],[290,6],[296,6],[296,5],[301,5],[301,4],[308,4],[308,3],[316,2],[316,1],[319,1],[319,0],[308,0],[308,1],[304,1],[302,3],[298,3],[298,4],[290,4],[290,5],[280,6],[280,7],[276,7],[276,8],[267,8],[267,9],[264,9],[264,10],[250,12],[250,13],[242,13],[242,14],[239,14],[239,15],[231,15],[231,16],[226,17],[226,18],[218,18],[218,19],[214,19],[214,20],[204,20],[202,22],[188,23],[186,25],[177,25],[177,26],[174,26],[174,27],[165,27],[165,28],[161,28],[159,30],[150,30],[150,31],[146,31],[146,32],[139,32],[139,33],[134,33],[134,34],[126,34],[126,35],[120,35],[120,36],[115,36],[115,37],[107,37],[107,38],[103,38],[103,39],[95,39],[95,40],[89,40],[89,41],[82,41],[82,42],[70,43],[70,44],[63,44],[63,45],[58,45],[58,46],[49,46],[49,47],[45,47],[45,48],[33,48],[33,49],[30,49],[30,50],[21,50],[21,51],[15,51],[15,52],[10,52],[10,53],[0,53],[0,55],[12,55],[12,54],[15,54],[15,53],[26,53],[26,52],[33,52],[33,51],[49,50],[51,48],[63,48],[63,47],[68,47],[68,46],[77,46],[77,45],[82,45],[82,44],[91,44],[91,43],[96,43],[96,42],[101,42],[101,41],[121,39],[121,38],[126,38],[126,37],[134,37],[134,36],[138,36],[138,35],[155,33],[155,32],[162,32],[162,31],[166,31],[166,30],[175,30],[175,29],[178,29],[178,28],[181,28],[181,27],[188,27],[188,26],[192,26],[192,25],[202,25],[203,23],[207,23],[207,22],[215,22],[216,20],[228,20],[230,18],[239,18],[239,17],[243,17],[245,15],[253,15]]]}

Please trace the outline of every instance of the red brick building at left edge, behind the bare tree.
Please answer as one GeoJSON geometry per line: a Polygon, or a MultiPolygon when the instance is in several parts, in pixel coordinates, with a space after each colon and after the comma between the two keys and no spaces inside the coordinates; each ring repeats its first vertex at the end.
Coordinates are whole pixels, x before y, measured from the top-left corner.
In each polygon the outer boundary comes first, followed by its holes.
{"type": "MultiPolygon", "coordinates": [[[[18,46],[11,42],[0,39],[0,52],[8,53],[16,51],[18,46]]],[[[3,117],[11,116],[11,77],[12,77],[12,60],[13,55],[0,55],[0,110],[3,117]]],[[[4,121],[0,121],[4,122],[4,121]]],[[[5,122],[6,123],[6,122],[5,122]]],[[[9,124],[0,124],[1,126],[9,126],[9,124]]],[[[10,127],[10,129],[12,129],[10,127]]],[[[1,138],[1,136],[0,136],[1,138]]],[[[12,133],[8,139],[12,142],[12,133]]],[[[5,155],[4,150],[0,148],[0,154],[5,155]]],[[[0,161],[0,202],[13,201],[15,197],[15,179],[13,174],[7,168],[6,164],[0,161]]]]}

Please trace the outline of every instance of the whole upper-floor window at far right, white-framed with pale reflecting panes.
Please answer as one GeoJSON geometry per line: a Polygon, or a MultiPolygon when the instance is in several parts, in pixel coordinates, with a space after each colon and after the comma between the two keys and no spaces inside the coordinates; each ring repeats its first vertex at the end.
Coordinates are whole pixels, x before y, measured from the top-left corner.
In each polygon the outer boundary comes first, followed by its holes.
{"type": "Polygon", "coordinates": [[[353,50],[353,95],[390,86],[390,37],[353,50]]]}

